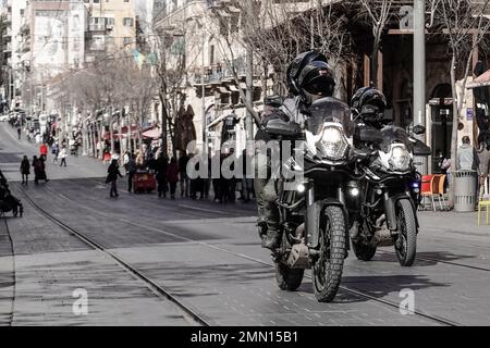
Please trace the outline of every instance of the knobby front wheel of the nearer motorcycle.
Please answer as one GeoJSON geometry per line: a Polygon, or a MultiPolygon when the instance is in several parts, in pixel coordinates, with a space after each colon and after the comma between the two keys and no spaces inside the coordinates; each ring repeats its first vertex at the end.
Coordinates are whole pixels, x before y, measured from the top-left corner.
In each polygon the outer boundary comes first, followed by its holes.
{"type": "Polygon", "coordinates": [[[345,257],[345,222],[342,209],[327,207],[320,227],[320,256],[313,266],[315,297],[331,302],[339,290],[345,257]]]}

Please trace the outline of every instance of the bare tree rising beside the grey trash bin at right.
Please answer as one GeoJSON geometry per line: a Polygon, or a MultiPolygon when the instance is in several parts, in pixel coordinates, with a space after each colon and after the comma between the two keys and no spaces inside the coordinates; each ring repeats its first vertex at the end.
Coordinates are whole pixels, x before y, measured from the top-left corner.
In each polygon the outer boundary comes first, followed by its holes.
{"type": "MultiPolygon", "coordinates": [[[[457,161],[457,127],[465,97],[468,77],[471,74],[471,60],[475,50],[487,45],[487,32],[490,21],[485,16],[489,10],[489,0],[433,0],[437,5],[436,21],[440,23],[449,38],[451,54],[451,86],[453,97],[453,129],[451,137],[452,171],[456,170],[457,161]],[[456,88],[458,79],[460,88],[456,88]]],[[[433,8],[433,7],[432,7],[433,8]]],[[[452,185],[454,187],[454,175],[452,185]]],[[[450,192],[450,204],[454,201],[454,189],[450,192]]]]}

